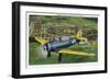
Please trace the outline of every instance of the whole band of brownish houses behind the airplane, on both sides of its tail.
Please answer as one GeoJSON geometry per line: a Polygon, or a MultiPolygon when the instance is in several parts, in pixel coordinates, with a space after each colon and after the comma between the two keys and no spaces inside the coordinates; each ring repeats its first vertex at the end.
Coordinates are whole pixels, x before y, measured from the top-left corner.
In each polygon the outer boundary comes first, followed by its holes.
{"type": "Polygon", "coordinates": [[[85,32],[84,36],[97,39],[97,30],[85,28],[82,25],[70,25],[67,23],[40,23],[34,22],[30,24],[30,36],[38,36],[45,39],[52,39],[55,36],[75,35],[78,30],[85,32]]]}

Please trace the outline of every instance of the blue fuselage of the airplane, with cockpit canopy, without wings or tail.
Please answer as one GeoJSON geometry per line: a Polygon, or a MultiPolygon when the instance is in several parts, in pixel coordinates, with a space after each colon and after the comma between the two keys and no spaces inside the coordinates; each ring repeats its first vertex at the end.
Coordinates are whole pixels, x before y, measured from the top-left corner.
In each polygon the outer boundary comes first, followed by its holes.
{"type": "Polygon", "coordinates": [[[57,52],[59,49],[69,47],[76,43],[77,43],[77,38],[72,38],[72,37],[66,37],[66,39],[63,37],[58,39],[53,38],[52,41],[50,41],[44,45],[44,48],[46,48],[47,52],[57,52]]]}

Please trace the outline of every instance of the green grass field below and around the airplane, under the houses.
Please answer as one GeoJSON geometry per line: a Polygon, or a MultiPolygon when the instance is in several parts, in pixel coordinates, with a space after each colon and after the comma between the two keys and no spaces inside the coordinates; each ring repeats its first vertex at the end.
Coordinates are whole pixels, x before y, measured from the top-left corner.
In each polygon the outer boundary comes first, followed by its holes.
{"type": "Polygon", "coordinates": [[[50,58],[40,58],[36,53],[36,47],[38,46],[37,43],[30,43],[29,46],[29,65],[48,65],[48,64],[75,64],[75,62],[94,62],[98,60],[97,56],[97,43],[94,42],[89,45],[75,45],[70,46],[69,49],[78,50],[78,52],[87,52],[87,53],[95,53],[95,57],[84,57],[84,56],[74,56],[74,55],[63,55],[63,59],[58,62],[58,53],[52,53],[50,58]]]}

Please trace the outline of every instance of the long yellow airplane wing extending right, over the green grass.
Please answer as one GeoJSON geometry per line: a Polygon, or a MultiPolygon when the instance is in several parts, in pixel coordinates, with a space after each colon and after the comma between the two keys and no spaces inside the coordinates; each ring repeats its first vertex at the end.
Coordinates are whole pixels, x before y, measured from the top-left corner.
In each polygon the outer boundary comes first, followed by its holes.
{"type": "Polygon", "coordinates": [[[84,53],[84,52],[76,52],[76,50],[70,50],[70,49],[62,49],[58,50],[59,54],[70,54],[70,55],[79,55],[79,56],[95,56],[92,53],[84,53]]]}

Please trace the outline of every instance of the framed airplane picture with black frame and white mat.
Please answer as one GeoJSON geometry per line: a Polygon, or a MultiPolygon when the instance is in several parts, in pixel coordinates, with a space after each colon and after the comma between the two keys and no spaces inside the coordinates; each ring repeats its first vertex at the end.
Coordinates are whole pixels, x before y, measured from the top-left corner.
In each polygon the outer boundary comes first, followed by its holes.
{"type": "Polygon", "coordinates": [[[12,77],[107,72],[107,8],[12,3],[12,77]]]}

